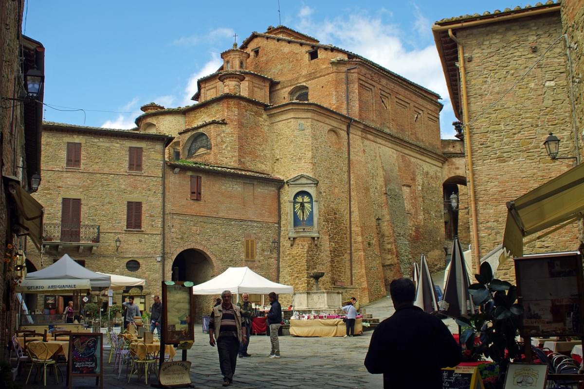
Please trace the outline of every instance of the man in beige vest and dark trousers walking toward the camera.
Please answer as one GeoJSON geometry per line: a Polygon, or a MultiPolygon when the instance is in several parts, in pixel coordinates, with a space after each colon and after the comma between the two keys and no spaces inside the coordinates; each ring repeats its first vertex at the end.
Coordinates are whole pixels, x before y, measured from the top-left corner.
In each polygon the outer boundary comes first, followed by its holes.
{"type": "Polygon", "coordinates": [[[221,293],[223,303],[213,308],[209,321],[209,344],[215,346],[219,353],[219,366],[223,374],[223,386],[230,386],[233,382],[239,344],[246,342],[245,322],[241,319],[239,307],[231,304],[231,292],[221,293]]]}

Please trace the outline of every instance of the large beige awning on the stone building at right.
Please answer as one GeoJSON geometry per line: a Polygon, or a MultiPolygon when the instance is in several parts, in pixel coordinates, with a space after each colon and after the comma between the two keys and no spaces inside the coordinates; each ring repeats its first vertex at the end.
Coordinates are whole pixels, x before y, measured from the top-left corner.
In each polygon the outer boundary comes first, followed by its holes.
{"type": "Polygon", "coordinates": [[[576,221],[584,214],[584,164],[507,202],[503,246],[516,257],[523,255],[523,237],[576,221]]]}

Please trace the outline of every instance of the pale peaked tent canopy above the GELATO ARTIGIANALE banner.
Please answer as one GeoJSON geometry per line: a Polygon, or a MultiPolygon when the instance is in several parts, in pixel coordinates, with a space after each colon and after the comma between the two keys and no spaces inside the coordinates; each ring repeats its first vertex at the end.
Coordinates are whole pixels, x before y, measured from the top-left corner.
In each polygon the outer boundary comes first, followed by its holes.
{"type": "Polygon", "coordinates": [[[112,279],[109,275],[92,272],[79,265],[69,255],[63,255],[54,264],[26,275],[28,280],[89,280],[92,289],[109,288],[112,279]]]}

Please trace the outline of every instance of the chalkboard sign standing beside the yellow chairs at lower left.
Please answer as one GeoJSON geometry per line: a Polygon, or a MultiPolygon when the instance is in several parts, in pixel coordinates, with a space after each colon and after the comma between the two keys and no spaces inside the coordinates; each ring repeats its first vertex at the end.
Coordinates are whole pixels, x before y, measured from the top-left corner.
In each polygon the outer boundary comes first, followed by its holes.
{"type": "Polygon", "coordinates": [[[103,334],[73,332],[69,337],[69,389],[74,377],[97,377],[103,389],[103,334]]]}

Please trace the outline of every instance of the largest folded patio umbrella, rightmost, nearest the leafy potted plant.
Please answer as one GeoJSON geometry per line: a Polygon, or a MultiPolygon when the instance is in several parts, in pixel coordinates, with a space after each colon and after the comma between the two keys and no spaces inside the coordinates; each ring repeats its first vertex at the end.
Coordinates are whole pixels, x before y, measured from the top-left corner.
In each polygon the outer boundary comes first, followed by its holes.
{"type": "Polygon", "coordinates": [[[458,237],[454,237],[450,272],[444,286],[444,296],[440,302],[440,313],[450,317],[475,313],[472,296],[468,293],[468,286],[470,286],[470,280],[464,263],[463,248],[460,246],[458,237]]]}

